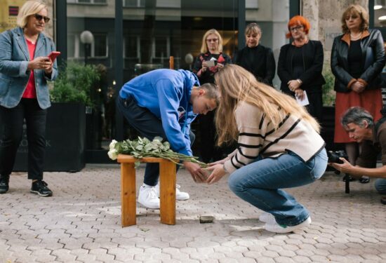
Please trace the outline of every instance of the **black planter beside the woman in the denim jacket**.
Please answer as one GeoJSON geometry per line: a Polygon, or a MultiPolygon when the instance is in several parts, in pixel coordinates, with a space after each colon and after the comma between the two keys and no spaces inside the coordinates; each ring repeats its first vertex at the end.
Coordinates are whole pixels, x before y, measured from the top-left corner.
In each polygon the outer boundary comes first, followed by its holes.
{"type": "MultiPolygon", "coordinates": [[[[76,172],[84,168],[85,139],[84,104],[53,103],[47,114],[44,170],[76,172]]],[[[13,170],[27,171],[27,146],[24,129],[13,170]]]]}

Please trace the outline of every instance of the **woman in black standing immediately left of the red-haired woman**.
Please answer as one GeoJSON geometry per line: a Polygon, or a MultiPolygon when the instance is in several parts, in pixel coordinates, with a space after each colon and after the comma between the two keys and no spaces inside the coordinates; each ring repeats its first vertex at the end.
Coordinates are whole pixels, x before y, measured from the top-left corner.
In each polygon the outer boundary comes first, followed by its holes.
{"type": "Polygon", "coordinates": [[[258,24],[251,23],[246,26],[246,47],[239,50],[234,64],[244,67],[258,81],[273,86],[272,79],[276,69],[274,53],[271,48],[260,45],[261,34],[258,24]]]}

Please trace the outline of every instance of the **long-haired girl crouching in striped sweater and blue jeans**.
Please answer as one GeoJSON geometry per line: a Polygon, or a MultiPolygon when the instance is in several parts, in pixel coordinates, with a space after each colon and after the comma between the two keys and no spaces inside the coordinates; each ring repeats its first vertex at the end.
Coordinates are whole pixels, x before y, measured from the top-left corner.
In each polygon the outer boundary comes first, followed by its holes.
{"type": "Polygon", "coordinates": [[[311,223],[310,213],[284,188],[319,179],[326,170],[319,123],[288,95],[263,83],[246,69],[225,65],[215,74],[221,94],[216,113],[218,144],[237,140],[227,158],[211,163],[207,182],[230,173],[229,188],[264,210],[265,229],[288,233],[311,223]]]}

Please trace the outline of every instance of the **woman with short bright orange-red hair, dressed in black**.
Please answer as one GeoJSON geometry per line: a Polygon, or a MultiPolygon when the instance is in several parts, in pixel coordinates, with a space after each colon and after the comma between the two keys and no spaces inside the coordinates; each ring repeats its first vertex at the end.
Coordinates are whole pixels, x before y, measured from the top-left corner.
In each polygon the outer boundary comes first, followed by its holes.
{"type": "Polygon", "coordinates": [[[321,121],[323,101],[321,86],[326,81],[321,75],[323,69],[323,46],[320,41],[310,40],[310,22],[301,15],[296,15],[288,22],[287,38],[291,43],[281,47],[277,74],[281,80],[280,89],[299,100],[305,92],[310,104],[307,110],[314,118],[321,121]]]}

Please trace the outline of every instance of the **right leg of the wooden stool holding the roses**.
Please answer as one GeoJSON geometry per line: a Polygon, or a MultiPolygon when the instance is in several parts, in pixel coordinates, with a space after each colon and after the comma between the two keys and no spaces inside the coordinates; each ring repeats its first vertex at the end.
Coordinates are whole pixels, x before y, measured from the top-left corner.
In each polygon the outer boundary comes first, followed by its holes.
{"type": "Polygon", "coordinates": [[[175,163],[159,163],[159,198],[161,223],[175,224],[175,163]]]}

